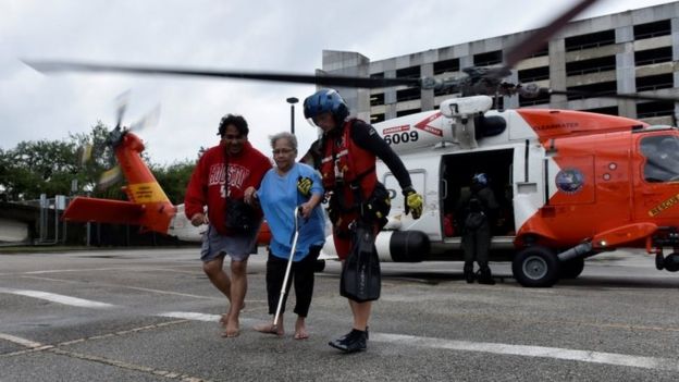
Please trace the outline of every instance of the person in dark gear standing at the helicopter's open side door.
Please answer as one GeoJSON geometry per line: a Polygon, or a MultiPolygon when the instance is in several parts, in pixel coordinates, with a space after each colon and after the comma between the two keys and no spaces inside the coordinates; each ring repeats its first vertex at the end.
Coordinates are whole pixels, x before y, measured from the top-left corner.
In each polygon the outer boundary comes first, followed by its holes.
{"type": "Polygon", "coordinates": [[[473,283],[477,276],[479,284],[495,284],[489,267],[489,250],[492,238],[491,226],[498,207],[493,189],[489,186],[487,175],[474,174],[471,178],[470,193],[460,199],[456,213],[461,218],[459,226],[462,229],[464,272],[468,283],[473,283]],[[479,264],[477,275],[473,273],[474,260],[479,264]]]}

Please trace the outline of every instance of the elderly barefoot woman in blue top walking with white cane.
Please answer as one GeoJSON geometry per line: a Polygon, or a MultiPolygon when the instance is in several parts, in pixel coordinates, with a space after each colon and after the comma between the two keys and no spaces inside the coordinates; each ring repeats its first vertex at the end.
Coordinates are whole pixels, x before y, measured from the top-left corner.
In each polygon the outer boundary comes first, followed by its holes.
{"type": "MultiPolygon", "coordinates": [[[[299,209],[297,223],[299,234],[293,258],[289,280],[295,284],[297,313],[295,340],[309,337],[305,320],[309,313],[313,294],[313,264],[324,244],[324,217],[319,207],[323,198],[323,187],[319,174],[309,165],[295,162],[297,138],[289,133],[279,133],[271,137],[275,168],[269,170],[257,192],[259,202],[271,227],[272,241],[267,260],[267,294],[269,313],[275,315],[287,259],[292,251],[295,235],[295,210],[299,209]]],[[[285,297],[291,282],[286,285],[285,297]]],[[[266,323],[255,326],[262,333],[283,335],[283,311],[276,325],[266,323]]]]}

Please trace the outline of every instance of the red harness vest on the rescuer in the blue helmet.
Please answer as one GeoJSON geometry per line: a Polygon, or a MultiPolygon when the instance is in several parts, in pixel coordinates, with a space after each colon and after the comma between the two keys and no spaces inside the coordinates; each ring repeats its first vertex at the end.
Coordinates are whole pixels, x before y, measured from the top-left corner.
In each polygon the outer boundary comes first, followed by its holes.
{"type": "Polygon", "coordinates": [[[360,202],[355,200],[357,189],[360,190],[362,200],[367,200],[378,184],[375,155],[351,140],[351,128],[356,128],[356,121],[358,120],[346,121],[341,132],[334,132],[332,137],[324,137],[320,167],[323,187],[341,194],[342,204],[348,209],[360,202]]]}

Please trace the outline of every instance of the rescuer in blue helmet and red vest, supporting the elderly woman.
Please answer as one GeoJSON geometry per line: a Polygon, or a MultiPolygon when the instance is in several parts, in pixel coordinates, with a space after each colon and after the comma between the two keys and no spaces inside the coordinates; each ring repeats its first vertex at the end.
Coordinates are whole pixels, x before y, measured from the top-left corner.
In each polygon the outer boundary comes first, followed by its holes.
{"type": "MultiPolygon", "coordinates": [[[[386,223],[390,209],[388,193],[378,182],[375,161],[380,158],[392,171],[406,198],[406,213],[413,219],[422,213],[422,196],[412,188],[410,175],[400,158],[369,124],[349,119],[349,109],[334,89],[321,89],[307,97],[304,113],[312,126],[320,127],[323,135],[312,146],[320,158],[314,163],[322,175],[323,188],[331,195],[329,215],[333,223],[333,241],[341,260],[351,248],[349,224],[361,219],[379,232],[386,223]],[[360,199],[360,200],[359,200],[360,199]],[[367,208],[370,206],[372,208],[367,208]]],[[[365,350],[368,341],[368,319],[372,301],[358,303],[349,299],[354,316],[353,330],[329,343],[345,353],[365,350]]]]}

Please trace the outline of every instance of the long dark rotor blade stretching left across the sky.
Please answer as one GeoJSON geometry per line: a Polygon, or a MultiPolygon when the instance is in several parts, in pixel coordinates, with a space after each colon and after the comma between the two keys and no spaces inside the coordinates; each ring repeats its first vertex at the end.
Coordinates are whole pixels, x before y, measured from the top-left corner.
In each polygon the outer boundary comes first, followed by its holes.
{"type": "Polygon", "coordinates": [[[108,73],[131,73],[146,75],[180,75],[180,76],[202,76],[217,78],[239,78],[239,79],[258,79],[268,82],[282,82],[295,84],[325,85],[337,87],[357,87],[357,88],[379,88],[390,86],[420,86],[419,78],[370,78],[370,77],[349,77],[337,75],[308,75],[293,73],[271,73],[271,72],[231,72],[219,70],[201,70],[201,69],[178,69],[162,66],[134,66],[134,65],[115,65],[115,64],[98,64],[73,61],[30,61],[23,60],[41,73],[59,73],[59,72],[108,72],[108,73]]]}

